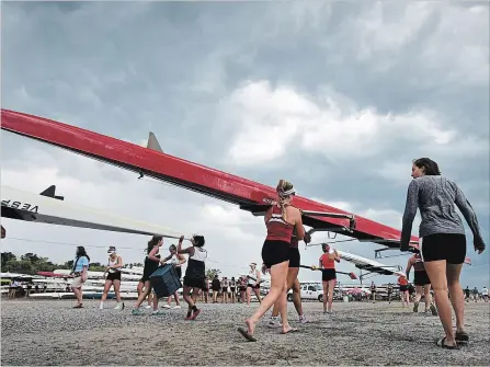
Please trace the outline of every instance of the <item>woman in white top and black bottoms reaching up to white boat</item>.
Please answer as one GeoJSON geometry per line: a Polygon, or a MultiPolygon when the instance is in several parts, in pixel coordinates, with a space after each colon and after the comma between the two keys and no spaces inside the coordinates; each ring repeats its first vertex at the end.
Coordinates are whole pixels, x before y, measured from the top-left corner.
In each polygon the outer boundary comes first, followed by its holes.
{"type": "Polygon", "coordinates": [[[207,251],[203,249],[205,240],[203,236],[194,234],[191,238],[192,246],[182,249],[184,237],[179,239],[176,252],[180,254],[189,254],[189,265],[184,275],[184,300],[189,305],[185,320],[195,320],[201,313],[201,309],[196,307],[197,296],[205,287],[204,279],[206,278],[207,251]],[[192,296],[191,296],[192,291],[192,296]]]}

